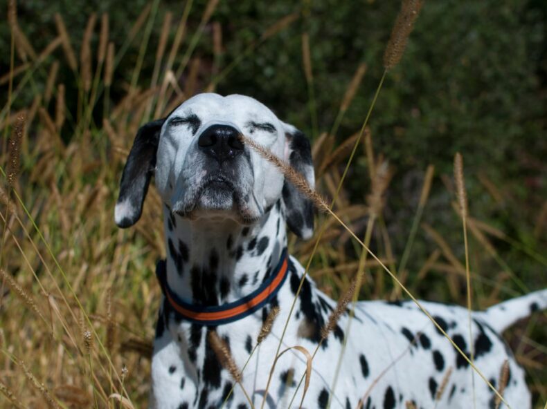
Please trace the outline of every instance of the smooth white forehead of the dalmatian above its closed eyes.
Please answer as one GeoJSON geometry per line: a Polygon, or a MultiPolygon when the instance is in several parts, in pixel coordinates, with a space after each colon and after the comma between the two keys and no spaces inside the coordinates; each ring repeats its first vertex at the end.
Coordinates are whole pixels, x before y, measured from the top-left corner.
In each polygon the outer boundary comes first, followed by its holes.
{"type": "MultiPolygon", "coordinates": [[[[203,93],[195,95],[179,105],[172,116],[197,115],[201,123],[213,120],[249,122],[253,120],[278,121],[276,115],[264,104],[246,95],[203,93]]],[[[276,124],[277,125],[277,124],[276,124]]]]}

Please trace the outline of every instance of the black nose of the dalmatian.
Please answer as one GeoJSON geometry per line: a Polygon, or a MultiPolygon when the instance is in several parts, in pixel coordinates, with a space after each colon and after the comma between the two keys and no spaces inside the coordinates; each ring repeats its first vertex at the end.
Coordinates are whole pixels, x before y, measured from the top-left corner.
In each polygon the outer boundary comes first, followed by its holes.
{"type": "Polygon", "coordinates": [[[212,125],[199,135],[197,144],[206,155],[224,162],[243,152],[244,146],[237,137],[239,134],[233,126],[212,125]]]}

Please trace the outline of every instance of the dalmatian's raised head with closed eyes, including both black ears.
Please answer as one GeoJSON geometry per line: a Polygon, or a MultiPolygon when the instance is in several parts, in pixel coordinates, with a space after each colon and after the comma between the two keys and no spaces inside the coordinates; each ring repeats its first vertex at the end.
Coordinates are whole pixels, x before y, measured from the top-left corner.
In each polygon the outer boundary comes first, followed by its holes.
{"type": "Polygon", "coordinates": [[[250,224],[283,198],[287,224],[309,238],[312,203],[273,164],[245,146],[240,134],[287,160],[314,186],[310,142],[303,133],[251,97],[199,94],[138,130],[123,169],[116,224],[129,227],[141,217],[154,175],[165,205],[183,217],[250,224]]]}

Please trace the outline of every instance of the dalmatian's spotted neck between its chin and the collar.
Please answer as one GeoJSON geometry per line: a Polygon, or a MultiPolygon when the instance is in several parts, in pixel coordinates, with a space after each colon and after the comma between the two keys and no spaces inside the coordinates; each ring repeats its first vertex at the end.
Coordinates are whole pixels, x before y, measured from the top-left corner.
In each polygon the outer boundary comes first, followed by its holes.
{"type": "Polygon", "coordinates": [[[278,201],[253,225],[233,220],[188,220],[164,209],[167,283],[189,303],[222,305],[260,287],[287,245],[278,201]]]}

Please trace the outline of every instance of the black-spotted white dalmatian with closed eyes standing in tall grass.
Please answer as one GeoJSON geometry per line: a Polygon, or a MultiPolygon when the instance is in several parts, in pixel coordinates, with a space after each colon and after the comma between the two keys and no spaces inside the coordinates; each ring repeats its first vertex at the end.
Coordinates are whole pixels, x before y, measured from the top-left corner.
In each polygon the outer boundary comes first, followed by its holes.
{"type": "MultiPolygon", "coordinates": [[[[287,255],[286,225],[310,238],[312,203],[283,173],[240,140],[244,134],[283,158],[314,186],[310,142],[251,97],[204,93],[183,102],[168,117],[139,129],[120,182],[115,220],[130,227],[141,216],[152,175],[163,200],[167,258],[158,263],[163,290],[152,356],[150,407],[298,408],[305,373],[303,354],[289,350],[270,369],[285,322],[281,348],[301,345],[313,352],[336,303],[306,277],[287,255]],[[256,346],[272,308],[279,307],[270,334],[253,352],[241,383],[220,363],[208,334],[217,332],[238,368],[256,346]],[[243,389],[249,396],[245,396],[243,389]],[[233,389],[233,393],[229,393],[233,389]],[[292,399],[296,392],[296,399],[292,399]],[[229,397],[228,397],[229,394],[229,397]]],[[[422,301],[422,305],[470,354],[494,387],[509,363],[504,399],[530,408],[524,372],[501,332],[547,307],[547,290],[472,313],[469,344],[467,310],[422,301]]],[[[411,301],[357,303],[334,389],[349,312],[313,359],[303,408],[493,408],[494,392],[453,345],[411,301]],[[436,394],[451,377],[440,401],[436,394]],[[474,392],[472,390],[474,389],[474,392]]],[[[501,407],[505,407],[503,404],[501,407]]]]}

